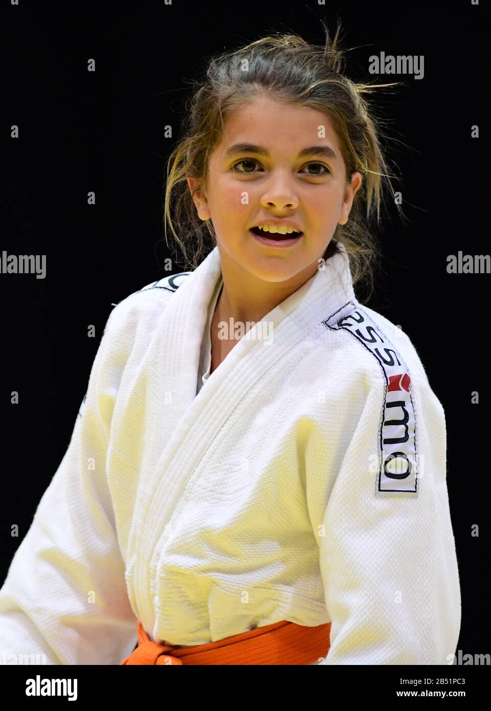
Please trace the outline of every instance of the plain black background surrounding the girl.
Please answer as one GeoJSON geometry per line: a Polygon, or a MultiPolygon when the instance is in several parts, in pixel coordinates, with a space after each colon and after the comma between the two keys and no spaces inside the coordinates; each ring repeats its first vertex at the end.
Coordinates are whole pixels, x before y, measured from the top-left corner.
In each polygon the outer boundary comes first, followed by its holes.
{"type": "MultiPolygon", "coordinates": [[[[447,256],[459,250],[489,253],[487,36],[482,6],[470,1],[450,9],[414,0],[7,4],[0,252],[47,255],[47,276],[0,274],[0,580],[68,447],[111,304],[168,276],[163,171],[173,141],[163,126],[178,137],[195,69],[276,31],[323,43],[320,18],[332,34],[341,19],[342,46],[355,48],[346,73],[355,80],[377,79],[369,55],[424,56],[423,80],[380,76],[405,84],[372,99],[391,122],[389,157],[404,181],[409,224],[392,208],[382,225],[384,272],[368,305],[408,333],[445,409],[463,596],[458,648],[487,653],[489,277],[446,272],[447,256]],[[95,73],[87,72],[89,58],[95,73]],[[13,124],[18,139],[10,138],[13,124]],[[480,139],[471,138],[474,124],[480,139]],[[87,205],[89,191],[95,205],[87,205]],[[88,324],[95,338],[87,338],[88,324]],[[11,405],[14,390],[19,405],[11,405]],[[473,391],[479,405],[471,404],[473,391]],[[11,538],[12,523],[19,538],[11,538]]],[[[173,272],[181,270],[176,264],[173,272]]]]}

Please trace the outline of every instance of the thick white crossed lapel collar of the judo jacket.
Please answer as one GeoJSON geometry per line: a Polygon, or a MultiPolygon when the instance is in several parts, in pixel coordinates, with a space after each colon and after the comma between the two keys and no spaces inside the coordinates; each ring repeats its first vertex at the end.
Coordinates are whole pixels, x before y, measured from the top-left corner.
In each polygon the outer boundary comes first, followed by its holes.
{"type": "MultiPolygon", "coordinates": [[[[342,248],[342,247],[341,247],[342,248]]],[[[342,250],[344,252],[344,250],[342,250]]],[[[158,320],[147,353],[153,359],[145,387],[156,388],[146,476],[139,484],[129,536],[126,582],[134,609],[145,629],[154,621],[156,568],[166,532],[186,482],[244,395],[285,351],[311,329],[355,308],[347,258],[334,255],[311,279],[264,316],[242,337],[196,396],[200,346],[207,308],[220,277],[215,247],[180,286],[158,320]],[[156,365],[155,365],[156,363],[156,365]],[[134,593],[134,595],[133,595],[134,593]]]]}

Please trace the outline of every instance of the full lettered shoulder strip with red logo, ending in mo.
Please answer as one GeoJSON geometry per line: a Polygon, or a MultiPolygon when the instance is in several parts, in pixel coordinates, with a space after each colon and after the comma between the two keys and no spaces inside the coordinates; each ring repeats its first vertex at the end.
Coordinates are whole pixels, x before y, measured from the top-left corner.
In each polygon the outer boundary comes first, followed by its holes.
{"type": "MultiPolygon", "coordinates": [[[[323,323],[342,329],[379,363],[385,380],[385,396],[379,422],[379,461],[375,496],[418,496],[418,454],[416,410],[411,397],[411,375],[399,351],[380,331],[371,317],[352,301],[352,311],[339,318],[340,311],[323,323]]],[[[348,304],[346,304],[348,305],[348,304]]],[[[344,307],[342,309],[345,310],[344,307]]]]}

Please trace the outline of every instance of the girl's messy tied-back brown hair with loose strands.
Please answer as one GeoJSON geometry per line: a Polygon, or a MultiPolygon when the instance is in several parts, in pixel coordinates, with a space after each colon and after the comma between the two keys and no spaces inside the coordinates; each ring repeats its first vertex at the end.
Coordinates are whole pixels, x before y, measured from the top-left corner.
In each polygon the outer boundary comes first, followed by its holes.
{"type": "Polygon", "coordinates": [[[355,193],[347,223],[336,226],[323,257],[328,259],[339,252],[337,243],[341,242],[350,260],[353,284],[362,280],[369,285],[368,300],[374,292],[373,267],[381,255],[369,223],[374,208],[377,225],[380,222],[384,185],[387,183],[390,193],[394,190],[379,143],[378,125],[382,122],[369,115],[361,95],[400,82],[369,85],[345,77],[345,60],[337,46],[340,23],[332,42],[328,28],[323,26],[324,47],[309,44],[294,34],[277,34],[208,60],[205,78],[195,81],[183,135],[167,161],[165,239],[170,247],[168,223],[193,269],[215,246],[212,220],[200,220],[196,214],[186,178],[201,178],[200,186],[206,185],[208,160],[221,141],[227,112],[267,92],[277,100],[328,114],[340,141],[347,180],[353,171],[362,174],[362,185],[355,193]]]}

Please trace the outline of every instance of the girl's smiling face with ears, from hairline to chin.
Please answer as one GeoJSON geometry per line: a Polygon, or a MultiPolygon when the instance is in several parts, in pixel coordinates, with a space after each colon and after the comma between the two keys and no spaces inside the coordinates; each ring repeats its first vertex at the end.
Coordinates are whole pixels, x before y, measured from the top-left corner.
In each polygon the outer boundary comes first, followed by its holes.
{"type": "MultiPolygon", "coordinates": [[[[207,184],[193,199],[200,218],[211,218],[220,259],[233,262],[235,274],[296,282],[318,269],[336,225],[347,222],[361,181],[360,173],[352,173],[346,182],[326,114],[261,95],[228,115],[210,156],[207,184]],[[266,245],[251,232],[283,220],[303,232],[288,247],[266,245]]],[[[188,178],[191,189],[198,183],[188,178]]]]}

